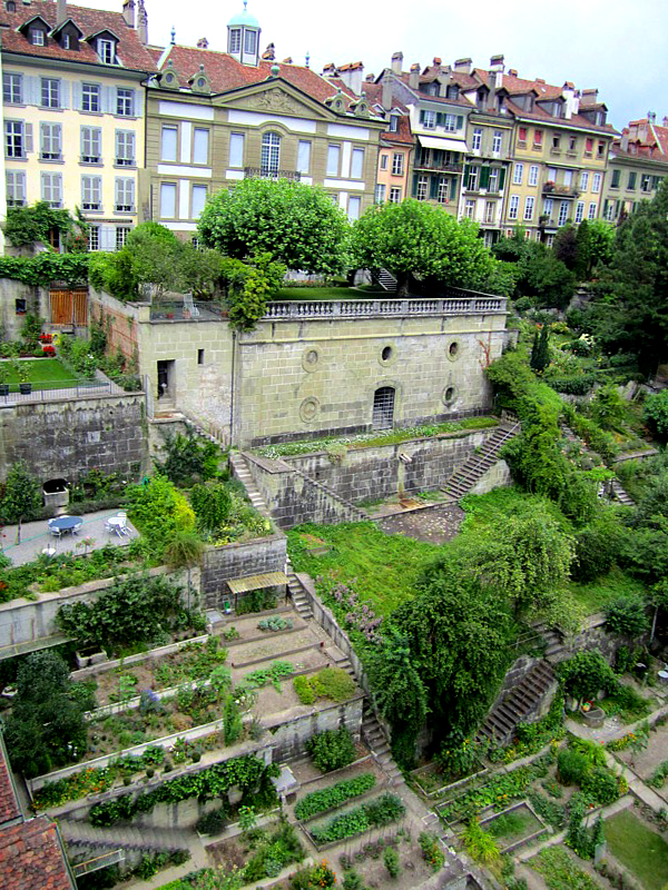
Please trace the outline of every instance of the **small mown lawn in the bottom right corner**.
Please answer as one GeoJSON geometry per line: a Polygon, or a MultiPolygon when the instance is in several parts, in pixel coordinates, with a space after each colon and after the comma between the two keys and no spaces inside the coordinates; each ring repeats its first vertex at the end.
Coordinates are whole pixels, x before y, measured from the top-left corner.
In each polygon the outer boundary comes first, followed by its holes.
{"type": "Polygon", "coordinates": [[[645,887],[662,890],[668,882],[668,843],[630,810],[606,820],[606,840],[618,859],[645,887]]]}

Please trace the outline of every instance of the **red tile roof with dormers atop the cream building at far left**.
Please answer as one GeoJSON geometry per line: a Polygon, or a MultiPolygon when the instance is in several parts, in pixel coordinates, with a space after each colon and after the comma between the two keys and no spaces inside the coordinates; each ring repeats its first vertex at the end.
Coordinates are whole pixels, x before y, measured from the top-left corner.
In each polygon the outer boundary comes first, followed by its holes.
{"type": "MultiPolygon", "coordinates": [[[[53,38],[47,38],[46,47],[35,47],[28,40],[27,34],[18,31],[21,24],[33,19],[36,16],[42,18],[50,29],[58,24],[58,11],[55,2],[47,0],[31,0],[29,6],[24,6],[22,0],[17,0],[17,11],[7,12],[4,3],[0,9],[0,26],[2,27],[2,51],[21,52],[26,56],[38,56],[42,59],[61,59],[71,62],[89,62],[100,65],[97,52],[86,38],[92,37],[100,31],[111,31],[118,37],[117,56],[121,68],[135,71],[153,71],[154,60],[139,40],[137,31],[130,28],[121,12],[105,12],[99,9],[87,9],[86,7],[75,7],[68,3],[67,14],[75,24],[84,32],[84,39],[79,43],[79,49],[63,49],[53,38]],[[9,26],[9,27],[8,27],[9,26]]],[[[104,66],[110,72],[117,66],[104,66]]]]}

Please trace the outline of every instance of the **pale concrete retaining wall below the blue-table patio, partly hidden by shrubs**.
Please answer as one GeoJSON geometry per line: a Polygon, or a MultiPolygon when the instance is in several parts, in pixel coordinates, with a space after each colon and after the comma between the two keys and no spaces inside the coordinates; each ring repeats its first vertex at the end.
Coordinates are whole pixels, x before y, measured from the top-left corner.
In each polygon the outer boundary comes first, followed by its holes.
{"type": "MultiPolygon", "coordinates": [[[[168,575],[177,583],[187,586],[185,571],[169,572],[165,566],[151,568],[150,577],[168,575]]],[[[195,590],[199,586],[199,570],[190,572],[195,590]]],[[[77,587],[63,587],[56,593],[40,593],[32,600],[12,600],[0,604],[0,660],[17,655],[22,651],[33,651],[63,642],[56,623],[58,610],[76,602],[89,603],[114,585],[114,578],[89,581],[77,587]]]]}

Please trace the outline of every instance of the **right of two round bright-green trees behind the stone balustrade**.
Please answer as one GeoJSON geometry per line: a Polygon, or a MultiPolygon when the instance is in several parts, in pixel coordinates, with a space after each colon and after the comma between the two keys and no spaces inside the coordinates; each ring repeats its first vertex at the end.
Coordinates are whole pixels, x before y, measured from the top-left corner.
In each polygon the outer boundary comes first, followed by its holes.
{"type": "Polygon", "coordinates": [[[508,267],[492,257],[475,222],[413,199],[366,210],[353,227],[353,265],[387,269],[400,295],[407,293],[410,275],[500,294],[512,287],[508,267]]]}

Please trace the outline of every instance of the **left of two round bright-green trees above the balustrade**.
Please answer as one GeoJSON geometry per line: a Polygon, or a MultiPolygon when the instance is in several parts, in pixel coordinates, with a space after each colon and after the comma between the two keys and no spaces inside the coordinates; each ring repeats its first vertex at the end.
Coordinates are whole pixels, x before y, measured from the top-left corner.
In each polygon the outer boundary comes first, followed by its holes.
{"type": "Polygon", "coordinates": [[[229,257],[266,253],[289,269],[336,275],[345,266],[350,227],[324,189],[244,179],[207,202],[198,231],[229,257]]]}

